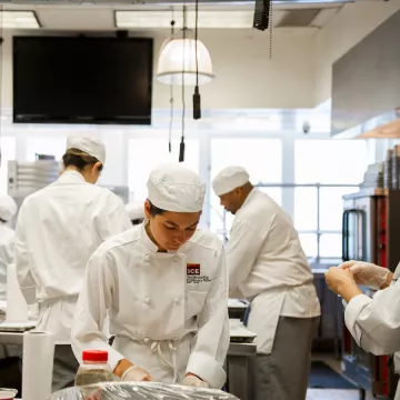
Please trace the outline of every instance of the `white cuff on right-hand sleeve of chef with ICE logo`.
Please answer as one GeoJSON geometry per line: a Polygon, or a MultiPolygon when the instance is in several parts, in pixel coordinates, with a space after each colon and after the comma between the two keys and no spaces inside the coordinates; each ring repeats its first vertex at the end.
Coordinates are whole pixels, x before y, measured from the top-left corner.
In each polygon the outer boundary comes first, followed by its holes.
{"type": "Polygon", "coordinates": [[[193,373],[210,384],[213,389],[221,389],[227,379],[222,366],[212,357],[193,352],[188,362],[187,373],[193,373]]]}

